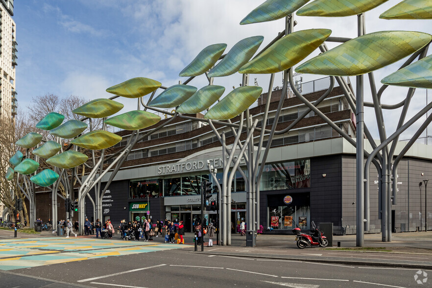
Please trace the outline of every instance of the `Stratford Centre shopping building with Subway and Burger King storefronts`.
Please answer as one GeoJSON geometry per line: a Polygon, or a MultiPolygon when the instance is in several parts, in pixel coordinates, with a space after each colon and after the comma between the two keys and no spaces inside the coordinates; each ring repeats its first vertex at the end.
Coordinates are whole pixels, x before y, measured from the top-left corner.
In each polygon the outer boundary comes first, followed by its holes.
{"type": "MultiPolygon", "coordinates": [[[[299,88],[313,103],[328,85],[329,78],[326,77],[303,83],[299,88]]],[[[268,129],[274,121],[281,96],[281,90],[275,89],[272,93],[268,120],[265,123],[268,129]]],[[[276,130],[287,127],[307,109],[289,91],[283,97],[286,99],[276,130]]],[[[266,94],[263,94],[250,111],[254,119],[261,120],[258,127],[263,126],[265,102],[266,94]]],[[[348,135],[356,137],[355,114],[339,87],[335,87],[318,108],[348,135]]],[[[203,117],[201,114],[193,116],[203,117]]],[[[233,123],[236,121],[239,121],[239,117],[232,119],[233,123]]],[[[219,132],[225,131],[227,144],[232,144],[234,136],[230,128],[215,126],[219,132]]],[[[119,131],[117,134],[126,137],[130,131],[119,131]]],[[[255,132],[256,142],[258,137],[259,132],[255,132]]],[[[240,140],[244,141],[245,138],[246,133],[242,133],[240,140]]],[[[395,156],[406,143],[398,143],[395,156]]],[[[125,144],[126,141],[117,144],[112,153],[125,144]]],[[[364,144],[367,150],[372,150],[366,139],[364,144]]],[[[335,234],[356,233],[356,148],[352,144],[311,112],[288,133],[276,135],[271,144],[264,142],[265,145],[270,145],[270,151],[265,164],[260,164],[265,167],[259,198],[259,226],[262,226],[264,233],[288,234],[296,226],[309,229],[311,220],[315,223],[332,222],[335,234]]],[[[425,215],[428,217],[428,229],[431,229],[432,205],[427,206],[428,211],[425,212],[425,191],[424,187],[419,187],[425,177],[421,173],[432,178],[431,156],[431,145],[416,143],[399,164],[398,201],[397,205],[392,205],[391,215],[392,229],[395,232],[424,229],[425,215]]],[[[111,219],[115,226],[122,219],[150,217],[153,222],[166,218],[183,220],[186,231],[192,231],[193,220],[201,214],[200,183],[203,180],[212,181],[207,161],[218,168],[216,178],[221,180],[222,148],[211,127],[196,120],[173,120],[135,145],[103,196],[104,219],[111,219]]],[[[240,167],[247,173],[244,162],[240,163],[240,167]]],[[[378,175],[373,165],[371,175],[378,175]]],[[[107,181],[109,176],[110,173],[105,175],[103,181],[107,181]]],[[[246,218],[246,188],[240,172],[237,171],[234,178],[231,205],[233,223],[230,225],[232,231],[236,232],[237,225],[246,218]]],[[[379,179],[378,176],[372,178],[369,232],[379,233],[379,179]]],[[[103,181],[102,188],[105,186],[103,181]]],[[[212,199],[216,199],[215,183],[213,187],[215,194],[212,199]]],[[[39,202],[49,203],[49,193],[39,194],[39,202]]],[[[60,204],[60,208],[61,206],[60,204]]],[[[43,207],[43,204],[38,203],[37,207],[43,207]]],[[[206,218],[216,219],[216,212],[206,213],[206,218]]],[[[86,215],[94,220],[93,206],[88,199],[86,215]]]]}

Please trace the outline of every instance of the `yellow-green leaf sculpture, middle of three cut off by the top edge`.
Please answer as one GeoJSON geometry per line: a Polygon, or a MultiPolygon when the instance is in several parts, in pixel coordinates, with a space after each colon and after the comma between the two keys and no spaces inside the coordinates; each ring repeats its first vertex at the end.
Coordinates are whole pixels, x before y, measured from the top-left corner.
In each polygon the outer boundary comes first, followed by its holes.
{"type": "Polygon", "coordinates": [[[344,17],[369,11],[388,0],[315,0],[297,11],[298,16],[344,17]]]}

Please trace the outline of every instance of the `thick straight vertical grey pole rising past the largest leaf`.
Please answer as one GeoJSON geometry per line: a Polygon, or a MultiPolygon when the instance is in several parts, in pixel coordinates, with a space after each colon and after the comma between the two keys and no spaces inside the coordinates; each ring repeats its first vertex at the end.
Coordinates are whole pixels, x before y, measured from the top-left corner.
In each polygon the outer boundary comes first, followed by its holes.
{"type": "MultiPolygon", "coordinates": [[[[358,36],[363,35],[363,21],[364,14],[357,16],[357,28],[358,36]]],[[[357,173],[357,235],[356,245],[363,247],[364,242],[364,173],[363,173],[363,131],[364,131],[364,120],[363,120],[363,75],[356,76],[356,120],[357,120],[357,135],[356,135],[356,173],[357,173]]]]}

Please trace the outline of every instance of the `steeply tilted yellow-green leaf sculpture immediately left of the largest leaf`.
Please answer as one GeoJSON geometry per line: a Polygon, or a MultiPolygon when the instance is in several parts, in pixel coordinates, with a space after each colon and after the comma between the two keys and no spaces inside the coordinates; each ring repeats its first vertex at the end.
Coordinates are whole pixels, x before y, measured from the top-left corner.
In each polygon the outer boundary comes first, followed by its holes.
{"type": "Polygon", "coordinates": [[[329,29],[309,29],[288,34],[246,63],[239,72],[265,74],[286,70],[305,59],[331,33],[329,29]]]}

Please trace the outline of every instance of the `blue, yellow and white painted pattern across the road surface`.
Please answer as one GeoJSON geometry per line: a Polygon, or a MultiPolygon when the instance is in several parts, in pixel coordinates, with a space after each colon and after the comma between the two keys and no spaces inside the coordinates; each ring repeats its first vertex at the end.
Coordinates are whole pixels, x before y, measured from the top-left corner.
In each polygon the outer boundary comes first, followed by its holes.
{"type": "Polygon", "coordinates": [[[85,238],[2,240],[0,243],[0,270],[15,270],[184,247],[178,244],[85,238]]]}

